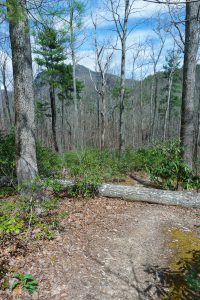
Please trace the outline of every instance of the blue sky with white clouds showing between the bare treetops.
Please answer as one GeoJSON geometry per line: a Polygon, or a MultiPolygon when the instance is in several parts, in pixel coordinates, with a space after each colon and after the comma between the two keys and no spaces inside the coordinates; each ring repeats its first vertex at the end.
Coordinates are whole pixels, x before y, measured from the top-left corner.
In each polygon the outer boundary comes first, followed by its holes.
{"type": "MultiPolygon", "coordinates": [[[[116,42],[115,26],[112,22],[112,15],[108,9],[105,8],[105,3],[109,0],[82,0],[86,5],[86,12],[83,17],[83,32],[81,35],[85,37],[84,43],[77,50],[77,62],[85,65],[86,67],[95,70],[95,52],[94,52],[94,40],[93,40],[93,24],[91,21],[91,13],[97,17],[97,39],[99,45],[106,43],[112,45],[116,42]]],[[[124,0],[120,1],[121,4],[124,0]]],[[[126,76],[132,76],[133,57],[138,53],[138,58],[135,64],[135,77],[143,78],[144,76],[152,73],[152,55],[156,57],[159,52],[161,41],[158,34],[154,29],[159,25],[161,29],[161,36],[165,40],[163,51],[158,62],[157,70],[161,70],[165,62],[165,56],[167,51],[174,47],[174,41],[168,32],[166,32],[169,25],[168,8],[163,4],[147,3],[142,0],[135,0],[133,5],[133,13],[129,17],[128,31],[131,31],[127,39],[127,59],[126,59],[126,76]],[[160,24],[158,22],[158,15],[160,15],[160,24]]],[[[51,4],[54,5],[55,1],[51,4]]],[[[65,1],[63,2],[65,3],[65,1]]],[[[120,16],[123,16],[123,5],[119,9],[120,16]]],[[[179,11],[183,11],[179,8],[179,11]]],[[[6,28],[1,24],[1,30],[5,31],[6,28]]],[[[62,22],[59,22],[59,26],[65,26],[62,22]]],[[[176,34],[176,32],[174,32],[176,34]]],[[[80,40],[82,39],[80,35],[80,40]]],[[[177,37],[178,39],[178,37],[177,37]]],[[[120,49],[120,42],[117,43],[117,48],[120,49]]],[[[11,69],[11,67],[10,67],[11,69]]],[[[34,70],[36,67],[34,64],[34,70]]],[[[120,70],[120,51],[115,51],[113,60],[110,65],[110,72],[119,74],[120,70]]]]}

